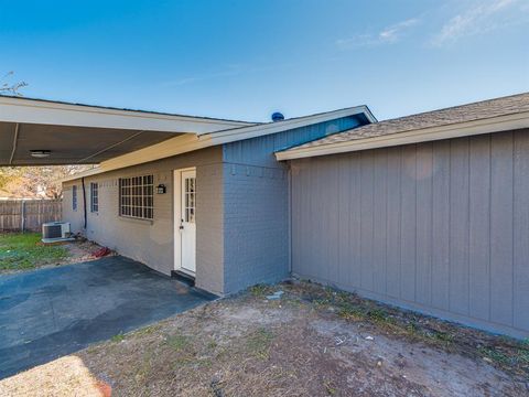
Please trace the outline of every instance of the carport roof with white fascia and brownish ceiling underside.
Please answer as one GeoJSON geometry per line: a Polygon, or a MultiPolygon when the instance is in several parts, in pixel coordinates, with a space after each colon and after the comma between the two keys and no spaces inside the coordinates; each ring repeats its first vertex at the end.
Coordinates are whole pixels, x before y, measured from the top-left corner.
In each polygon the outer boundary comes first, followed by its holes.
{"type": "Polygon", "coordinates": [[[96,164],[164,140],[252,124],[0,96],[0,165],[96,164]],[[32,151],[48,155],[35,158],[32,151]]]}

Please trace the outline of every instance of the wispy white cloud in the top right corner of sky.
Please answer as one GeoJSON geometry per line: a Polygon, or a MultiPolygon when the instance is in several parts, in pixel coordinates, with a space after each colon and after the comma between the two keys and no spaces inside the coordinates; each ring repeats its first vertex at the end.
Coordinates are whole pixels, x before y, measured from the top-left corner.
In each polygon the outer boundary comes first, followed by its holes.
{"type": "Polygon", "coordinates": [[[483,34],[522,22],[527,9],[515,7],[518,0],[479,0],[473,7],[450,19],[434,35],[433,45],[453,43],[461,37],[483,34]]]}

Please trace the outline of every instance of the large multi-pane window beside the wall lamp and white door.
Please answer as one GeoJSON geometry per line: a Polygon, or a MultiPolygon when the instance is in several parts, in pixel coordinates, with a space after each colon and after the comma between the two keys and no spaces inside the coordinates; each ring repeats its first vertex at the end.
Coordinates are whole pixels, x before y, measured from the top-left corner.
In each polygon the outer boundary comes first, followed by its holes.
{"type": "Polygon", "coordinates": [[[154,217],[154,176],[119,179],[119,215],[140,219],[154,217]]]}

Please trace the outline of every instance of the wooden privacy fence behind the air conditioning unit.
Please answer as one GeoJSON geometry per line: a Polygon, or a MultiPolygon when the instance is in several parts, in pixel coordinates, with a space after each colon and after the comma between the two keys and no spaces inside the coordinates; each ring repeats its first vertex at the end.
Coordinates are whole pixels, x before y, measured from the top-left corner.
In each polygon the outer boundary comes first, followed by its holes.
{"type": "Polygon", "coordinates": [[[1,200],[0,230],[41,232],[46,222],[61,221],[61,200],[1,200]]]}

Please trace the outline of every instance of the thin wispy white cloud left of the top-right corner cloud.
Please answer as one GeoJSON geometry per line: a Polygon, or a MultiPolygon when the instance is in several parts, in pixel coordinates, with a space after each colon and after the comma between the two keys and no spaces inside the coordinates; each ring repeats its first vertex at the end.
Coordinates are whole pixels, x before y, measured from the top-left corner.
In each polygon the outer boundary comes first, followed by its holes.
{"type": "Polygon", "coordinates": [[[348,39],[338,39],[336,45],[341,49],[352,49],[396,43],[406,35],[410,28],[418,23],[419,19],[412,18],[387,26],[378,33],[356,34],[348,39]]]}

